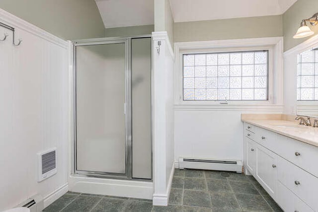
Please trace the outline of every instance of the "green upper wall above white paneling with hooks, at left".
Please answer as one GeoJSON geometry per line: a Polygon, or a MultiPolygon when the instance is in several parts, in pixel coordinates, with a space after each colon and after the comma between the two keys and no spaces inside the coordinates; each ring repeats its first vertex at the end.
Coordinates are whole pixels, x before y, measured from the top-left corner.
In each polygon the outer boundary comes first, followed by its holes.
{"type": "Polygon", "coordinates": [[[0,0],[0,8],[65,40],[104,36],[94,0],[0,0]]]}

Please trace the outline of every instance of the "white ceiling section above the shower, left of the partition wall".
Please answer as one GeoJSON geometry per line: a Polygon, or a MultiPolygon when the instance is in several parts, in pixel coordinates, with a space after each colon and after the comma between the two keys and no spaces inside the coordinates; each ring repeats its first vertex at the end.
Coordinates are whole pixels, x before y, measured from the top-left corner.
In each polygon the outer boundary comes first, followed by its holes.
{"type": "Polygon", "coordinates": [[[154,24],[154,0],[95,0],[105,28],[154,24]]]}

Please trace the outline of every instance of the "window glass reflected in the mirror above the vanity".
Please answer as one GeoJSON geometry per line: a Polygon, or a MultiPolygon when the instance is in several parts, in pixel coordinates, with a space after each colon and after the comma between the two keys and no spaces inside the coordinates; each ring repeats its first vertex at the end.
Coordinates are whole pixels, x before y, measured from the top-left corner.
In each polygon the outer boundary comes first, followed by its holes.
{"type": "Polygon", "coordinates": [[[318,101],[318,50],[298,55],[297,100],[318,101]]]}

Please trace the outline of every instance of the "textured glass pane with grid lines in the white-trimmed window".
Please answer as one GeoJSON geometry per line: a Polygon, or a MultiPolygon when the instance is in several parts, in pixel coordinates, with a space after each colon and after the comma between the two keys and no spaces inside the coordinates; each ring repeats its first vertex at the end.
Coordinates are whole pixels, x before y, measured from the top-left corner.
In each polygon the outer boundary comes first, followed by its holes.
{"type": "Polygon", "coordinates": [[[268,50],[183,54],[183,100],[268,100],[268,50]]]}

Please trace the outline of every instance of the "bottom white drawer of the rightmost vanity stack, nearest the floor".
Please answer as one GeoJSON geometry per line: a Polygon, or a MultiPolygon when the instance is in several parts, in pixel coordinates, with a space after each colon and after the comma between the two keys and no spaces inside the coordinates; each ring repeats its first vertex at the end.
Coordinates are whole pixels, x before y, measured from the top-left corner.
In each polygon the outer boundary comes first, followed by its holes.
{"type": "Polygon", "coordinates": [[[277,203],[285,212],[314,212],[280,182],[277,185],[277,203]]]}

